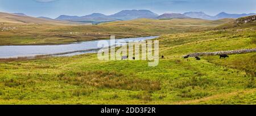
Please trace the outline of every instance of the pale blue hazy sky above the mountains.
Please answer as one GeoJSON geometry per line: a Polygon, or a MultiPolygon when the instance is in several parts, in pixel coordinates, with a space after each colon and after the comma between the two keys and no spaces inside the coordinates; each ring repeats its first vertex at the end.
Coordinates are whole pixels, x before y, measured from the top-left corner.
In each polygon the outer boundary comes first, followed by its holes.
{"type": "Polygon", "coordinates": [[[57,18],[59,15],[106,15],[121,10],[151,10],[156,14],[203,11],[209,15],[256,13],[256,0],[0,0],[0,12],[57,18]]]}

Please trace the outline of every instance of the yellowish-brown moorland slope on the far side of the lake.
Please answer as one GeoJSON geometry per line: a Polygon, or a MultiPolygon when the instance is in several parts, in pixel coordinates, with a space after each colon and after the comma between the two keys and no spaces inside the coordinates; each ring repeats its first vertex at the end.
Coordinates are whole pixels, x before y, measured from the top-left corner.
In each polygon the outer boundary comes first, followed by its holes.
{"type": "Polygon", "coordinates": [[[22,22],[15,23],[17,20],[6,20],[1,18],[0,14],[0,45],[55,45],[109,39],[110,35],[115,35],[116,38],[128,38],[199,32],[212,29],[233,19],[215,21],[137,19],[99,25],[71,25],[65,22],[50,22],[49,20],[46,22],[43,19],[37,22],[34,20],[33,18],[24,18],[22,22]]]}

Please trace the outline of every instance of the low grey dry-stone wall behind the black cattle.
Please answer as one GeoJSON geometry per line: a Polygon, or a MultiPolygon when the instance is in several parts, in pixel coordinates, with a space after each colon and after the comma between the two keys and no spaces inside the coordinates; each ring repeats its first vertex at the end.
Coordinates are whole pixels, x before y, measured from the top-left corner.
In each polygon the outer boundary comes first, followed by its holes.
{"type": "Polygon", "coordinates": [[[256,48],[254,49],[241,49],[241,50],[229,50],[229,51],[216,51],[216,52],[203,52],[203,53],[192,53],[188,55],[184,55],[184,58],[188,57],[200,57],[203,55],[220,55],[220,54],[244,54],[256,52],[256,48]]]}

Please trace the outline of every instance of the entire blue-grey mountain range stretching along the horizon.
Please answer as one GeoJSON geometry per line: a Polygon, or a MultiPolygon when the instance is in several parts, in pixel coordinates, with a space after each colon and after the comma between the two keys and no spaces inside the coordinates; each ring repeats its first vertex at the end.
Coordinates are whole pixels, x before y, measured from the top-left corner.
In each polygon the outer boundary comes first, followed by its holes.
{"type": "MultiPolygon", "coordinates": [[[[14,13],[14,15],[19,16],[27,16],[23,13],[14,13]]],[[[56,19],[47,18],[44,16],[40,16],[40,19],[48,19],[48,20],[68,20],[72,22],[114,22],[118,20],[133,20],[138,18],[148,18],[148,19],[186,19],[186,18],[199,18],[206,20],[218,20],[224,18],[241,18],[244,16],[256,15],[254,13],[251,14],[228,14],[226,12],[221,12],[216,16],[210,16],[205,14],[204,12],[185,12],[184,14],[163,14],[158,15],[150,10],[123,10],[117,12],[113,15],[104,15],[100,13],[93,13],[85,16],[69,16],[69,15],[60,15],[56,19]]]]}

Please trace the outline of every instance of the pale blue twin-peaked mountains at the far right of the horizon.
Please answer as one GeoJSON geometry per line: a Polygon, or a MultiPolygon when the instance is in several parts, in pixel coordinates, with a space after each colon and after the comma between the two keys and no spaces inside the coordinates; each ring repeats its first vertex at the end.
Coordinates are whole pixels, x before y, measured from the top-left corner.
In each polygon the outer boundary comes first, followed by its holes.
{"type": "Polygon", "coordinates": [[[218,20],[218,19],[225,19],[225,18],[241,18],[244,16],[251,16],[256,15],[254,13],[251,14],[228,14],[226,12],[221,12],[220,14],[217,14],[216,16],[210,16],[205,14],[204,12],[185,12],[183,15],[189,16],[191,18],[199,18],[199,19],[207,19],[207,20],[218,20]]]}

